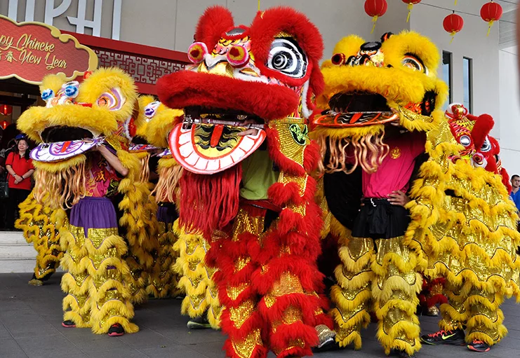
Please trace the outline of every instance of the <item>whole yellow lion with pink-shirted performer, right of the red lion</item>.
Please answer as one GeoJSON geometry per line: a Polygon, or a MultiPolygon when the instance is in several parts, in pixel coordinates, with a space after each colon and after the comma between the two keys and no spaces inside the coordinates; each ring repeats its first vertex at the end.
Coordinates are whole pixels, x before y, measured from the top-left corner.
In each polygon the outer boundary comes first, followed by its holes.
{"type": "MultiPolygon", "coordinates": [[[[449,310],[446,328],[456,324],[453,318],[476,312],[469,305],[495,315],[502,294],[516,294],[514,211],[500,179],[451,160],[460,147],[440,110],[447,88],[434,73],[438,64],[433,43],[403,32],[369,43],[347,36],[322,67],[326,88],[318,105],[326,111],[314,117],[312,134],[321,145],[331,233],[340,244],[342,264],[331,296],[341,346],[361,347],[360,330],[370,322],[373,304],[385,353],[413,356],[421,346],[415,310],[423,270],[429,279],[445,278],[453,289],[448,298],[460,303],[459,311],[449,310]],[[389,205],[392,191],[408,193],[412,201],[406,208],[389,205]],[[476,215],[483,221],[472,220],[476,215]],[[427,259],[434,268],[427,269],[427,259]],[[491,268],[484,270],[484,263],[491,268]],[[477,278],[474,270],[483,275],[477,278]]],[[[497,322],[476,317],[469,339],[489,340],[480,332],[497,322]]]]}

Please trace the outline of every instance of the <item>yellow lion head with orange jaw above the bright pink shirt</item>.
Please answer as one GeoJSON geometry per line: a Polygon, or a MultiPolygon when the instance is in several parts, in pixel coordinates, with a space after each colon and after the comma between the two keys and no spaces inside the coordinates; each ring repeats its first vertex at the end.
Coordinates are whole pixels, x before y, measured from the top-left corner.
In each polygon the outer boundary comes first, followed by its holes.
{"type": "MultiPolygon", "coordinates": [[[[441,106],[448,88],[436,76],[439,51],[415,32],[384,34],[380,42],[351,35],[334,48],[321,67],[325,90],[317,99],[314,137],[322,154],[352,145],[357,163],[374,172],[388,149],[385,124],[427,132],[444,121],[441,106]]],[[[338,163],[326,164],[331,170],[338,163]]],[[[352,168],[352,170],[355,169],[352,168]]]]}

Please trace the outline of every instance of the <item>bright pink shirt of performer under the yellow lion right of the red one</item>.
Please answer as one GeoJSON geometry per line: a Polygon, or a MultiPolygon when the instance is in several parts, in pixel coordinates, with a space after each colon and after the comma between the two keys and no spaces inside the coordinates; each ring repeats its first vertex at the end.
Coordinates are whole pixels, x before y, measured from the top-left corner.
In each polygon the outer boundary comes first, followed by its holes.
{"type": "Polygon", "coordinates": [[[425,152],[425,135],[410,132],[385,139],[390,151],[373,174],[363,172],[365,198],[387,198],[392,191],[408,191],[415,158],[425,152]]]}

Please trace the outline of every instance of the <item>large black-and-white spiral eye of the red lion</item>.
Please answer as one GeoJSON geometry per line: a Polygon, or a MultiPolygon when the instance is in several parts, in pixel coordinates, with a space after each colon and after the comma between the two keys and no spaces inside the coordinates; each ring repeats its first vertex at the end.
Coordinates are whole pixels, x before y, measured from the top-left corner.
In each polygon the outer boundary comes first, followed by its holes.
{"type": "Polygon", "coordinates": [[[267,67],[286,76],[302,78],[307,73],[307,56],[293,39],[275,39],[267,67]]]}

